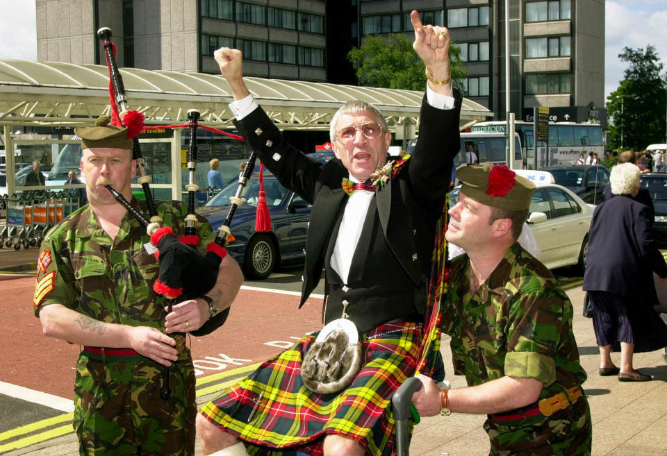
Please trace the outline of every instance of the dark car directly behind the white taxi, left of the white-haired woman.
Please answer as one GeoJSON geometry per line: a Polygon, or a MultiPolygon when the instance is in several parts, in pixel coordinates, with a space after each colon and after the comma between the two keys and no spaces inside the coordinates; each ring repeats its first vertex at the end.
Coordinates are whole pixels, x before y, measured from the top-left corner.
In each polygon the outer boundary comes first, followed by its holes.
{"type": "Polygon", "coordinates": [[[555,183],[574,192],[589,204],[604,201],[604,186],[609,184],[609,169],[602,164],[552,166],[540,168],[554,176],[555,183]]]}

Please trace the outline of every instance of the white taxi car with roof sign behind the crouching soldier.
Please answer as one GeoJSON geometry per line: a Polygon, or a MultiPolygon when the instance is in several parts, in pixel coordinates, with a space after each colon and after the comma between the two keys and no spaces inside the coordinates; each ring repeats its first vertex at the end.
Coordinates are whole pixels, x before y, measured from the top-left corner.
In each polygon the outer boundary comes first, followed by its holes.
{"type": "MultiPolygon", "coordinates": [[[[532,180],[537,187],[527,223],[540,247],[540,261],[549,269],[577,265],[583,274],[594,206],[584,203],[566,187],[554,184],[550,173],[514,171],[532,180]]],[[[450,192],[450,207],[458,201],[459,188],[450,192]]]]}

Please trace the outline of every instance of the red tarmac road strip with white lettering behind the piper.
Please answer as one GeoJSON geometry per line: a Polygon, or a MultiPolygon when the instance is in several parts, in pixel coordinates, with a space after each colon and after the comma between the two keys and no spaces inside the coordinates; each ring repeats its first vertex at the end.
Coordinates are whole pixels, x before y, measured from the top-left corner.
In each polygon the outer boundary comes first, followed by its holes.
{"type": "MultiPolygon", "coordinates": [[[[81,347],[42,335],[32,304],[35,278],[0,282],[0,381],[74,398],[74,367],[81,347]]],[[[306,332],[321,328],[322,299],[301,310],[299,297],[242,289],[227,322],[213,334],[190,337],[197,378],[262,362],[306,332]]]]}

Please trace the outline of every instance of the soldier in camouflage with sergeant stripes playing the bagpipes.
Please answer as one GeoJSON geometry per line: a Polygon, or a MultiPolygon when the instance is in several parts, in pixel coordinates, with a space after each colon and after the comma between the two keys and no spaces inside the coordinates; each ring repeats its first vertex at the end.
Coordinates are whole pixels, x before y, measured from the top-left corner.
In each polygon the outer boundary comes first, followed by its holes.
{"type": "MultiPolygon", "coordinates": [[[[44,334],[82,347],[74,386],[74,428],[81,455],[193,455],[195,374],[185,336],[231,305],[242,275],[223,258],[207,296],[173,306],[153,292],[156,256],[147,251],[145,228],[117,203],[111,185],[135,208],[136,162],[126,128],[76,128],[82,138],[81,171],[88,205],[49,231],[42,244],[35,287],[35,315],[44,334]],[[163,366],[170,366],[170,399],[160,398],[163,366]]],[[[183,235],[187,207],[157,202],[164,226],[183,235]]],[[[213,240],[198,223],[199,250],[213,240]]],[[[211,321],[209,321],[210,323],[211,321]]]]}

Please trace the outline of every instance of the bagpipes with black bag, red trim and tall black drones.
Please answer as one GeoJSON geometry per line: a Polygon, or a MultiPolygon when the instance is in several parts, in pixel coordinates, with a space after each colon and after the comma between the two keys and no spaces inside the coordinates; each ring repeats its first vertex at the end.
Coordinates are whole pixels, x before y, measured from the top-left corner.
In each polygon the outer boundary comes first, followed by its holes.
{"type": "MultiPolygon", "coordinates": [[[[127,96],[122,81],[122,75],[120,74],[115,61],[115,46],[113,42],[111,42],[111,31],[109,28],[103,27],[97,31],[97,35],[103,42],[109,69],[109,98],[112,110],[112,124],[115,126],[126,126],[128,128],[128,137],[133,138],[133,159],[137,160],[140,174],[138,182],[142,185],[142,189],[144,190],[150,218],[146,219],[142,213],[133,208],[122,194],[116,192],[109,185],[106,187],[111,194],[113,194],[116,201],[122,204],[126,210],[128,210],[128,212],[130,212],[130,214],[132,214],[133,217],[146,228],[147,233],[151,237],[151,243],[156,246],[158,250],[156,255],[158,255],[160,263],[160,272],[158,280],[156,280],[153,288],[154,292],[169,299],[168,312],[171,312],[174,298],[181,298],[181,301],[194,299],[203,296],[215,285],[217,273],[220,269],[220,263],[224,256],[227,255],[225,246],[227,246],[231,234],[229,228],[229,226],[231,226],[231,219],[238,205],[242,204],[242,200],[240,199],[242,188],[245,187],[249,176],[252,174],[255,158],[254,155],[252,155],[248,160],[243,176],[240,178],[240,185],[236,198],[232,199],[233,204],[229,210],[227,219],[225,220],[224,225],[218,230],[215,241],[208,244],[206,254],[202,255],[197,251],[199,236],[197,235],[197,216],[195,214],[196,192],[197,189],[199,189],[195,182],[197,167],[196,135],[199,112],[196,110],[188,111],[188,126],[190,127],[190,146],[188,147],[189,178],[188,184],[186,185],[186,190],[188,191],[188,214],[185,219],[185,235],[177,238],[176,235],[174,235],[172,228],[162,226],[163,220],[158,216],[156,210],[149,186],[151,178],[145,174],[145,162],[142,158],[141,148],[137,137],[138,133],[143,129],[144,117],[140,112],[127,111],[127,96]],[[120,105],[122,112],[126,112],[122,121],[117,112],[116,101],[120,105]]],[[[198,330],[192,330],[190,332],[195,336],[206,335],[221,326],[227,319],[228,314],[229,307],[218,312],[215,316],[211,316],[211,318],[198,330]]],[[[168,399],[170,395],[169,367],[165,366],[163,371],[163,388],[160,390],[160,396],[163,399],[168,399]]]]}

